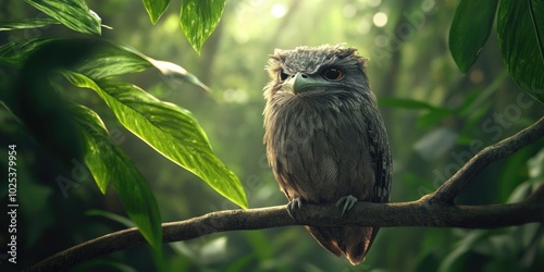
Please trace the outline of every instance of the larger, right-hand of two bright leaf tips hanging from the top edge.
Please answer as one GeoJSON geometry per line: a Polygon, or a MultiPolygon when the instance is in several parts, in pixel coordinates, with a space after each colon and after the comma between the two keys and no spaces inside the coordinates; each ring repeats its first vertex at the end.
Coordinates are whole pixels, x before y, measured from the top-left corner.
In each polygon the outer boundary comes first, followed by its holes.
{"type": "Polygon", "coordinates": [[[180,11],[182,29],[193,48],[200,53],[203,42],[210,37],[221,20],[225,0],[183,0],[180,11]]]}

